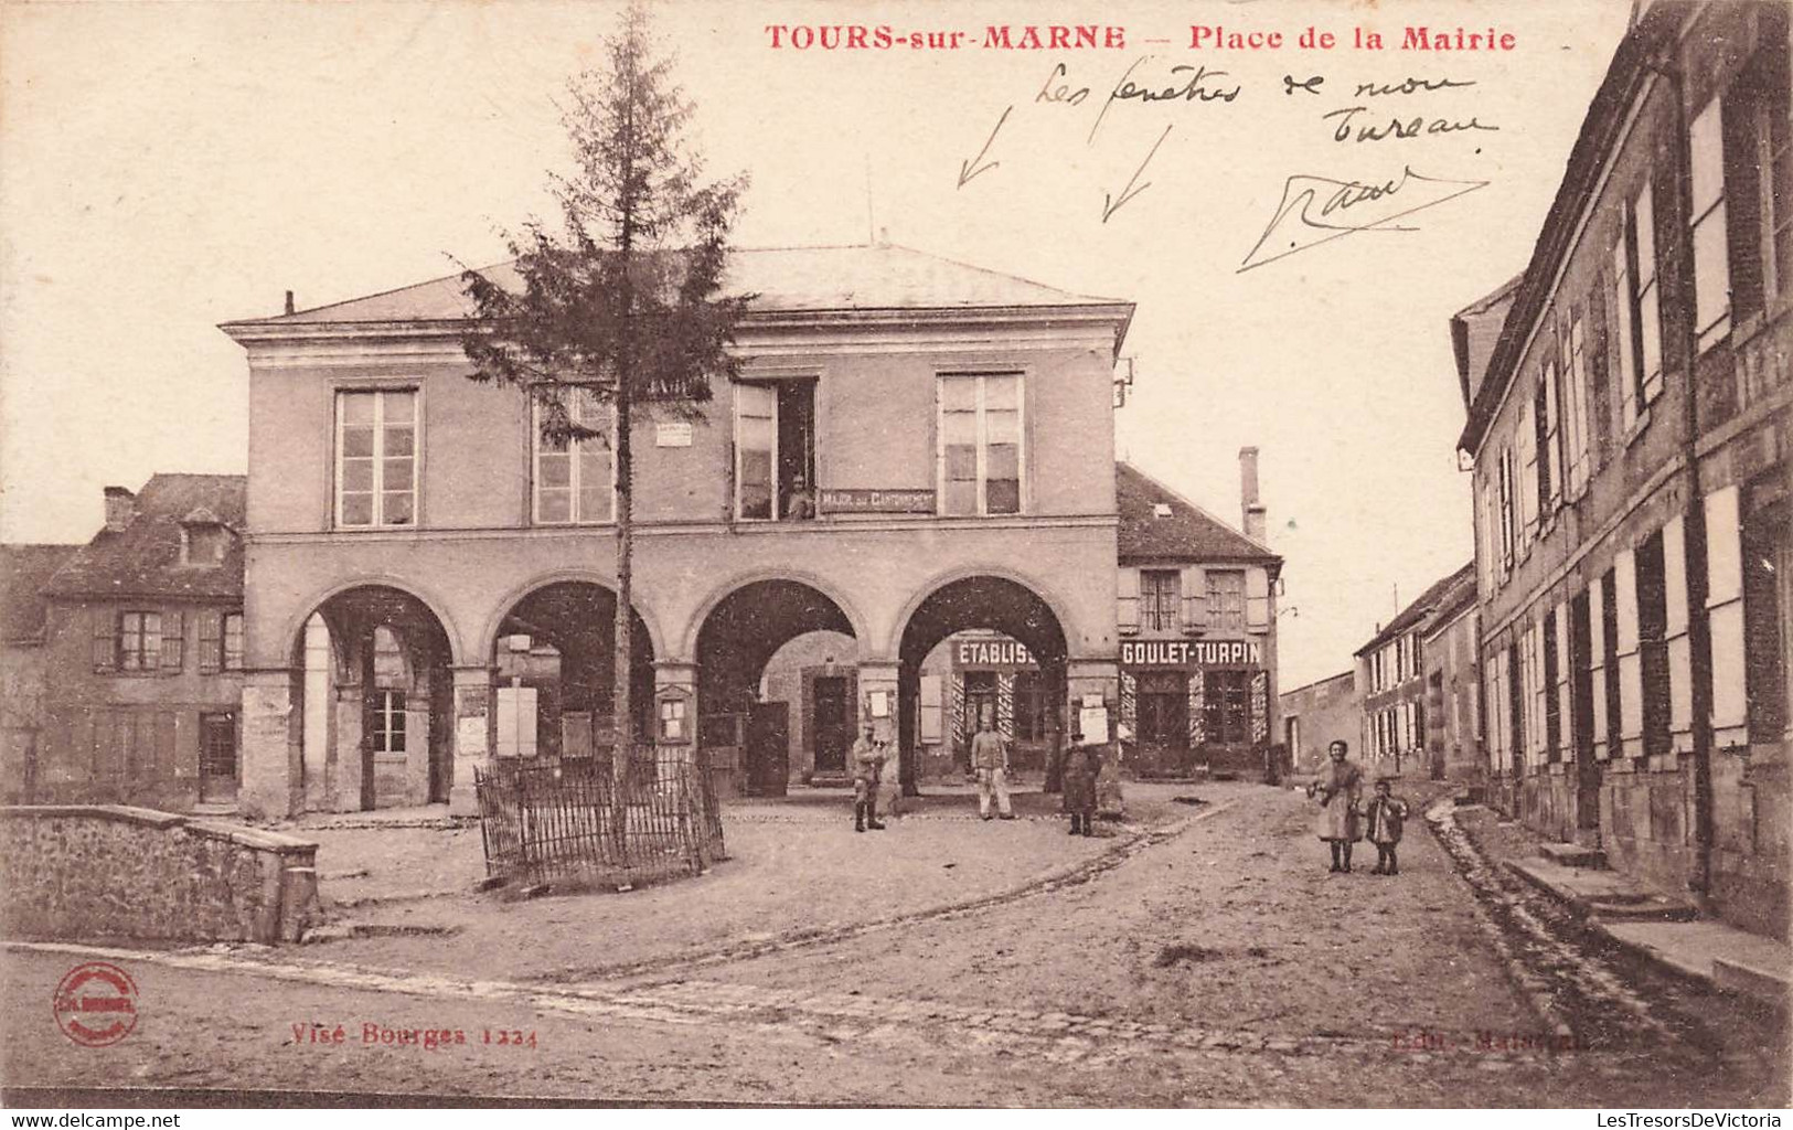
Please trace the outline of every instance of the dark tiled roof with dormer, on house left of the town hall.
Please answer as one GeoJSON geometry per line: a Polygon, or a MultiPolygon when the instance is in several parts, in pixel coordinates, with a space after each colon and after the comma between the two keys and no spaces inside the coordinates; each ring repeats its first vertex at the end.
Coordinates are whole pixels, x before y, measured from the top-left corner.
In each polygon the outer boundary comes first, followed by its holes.
{"type": "Polygon", "coordinates": [[[56,597],[242,599],[242,475],[154,475],[120,533],[100,529],[56,576],[56,597]],[[210,511],[210,515],[194,511],[210,511]],[[213,517],[233,531],[217,565],[181,563],[181,522],[213,517]]]}

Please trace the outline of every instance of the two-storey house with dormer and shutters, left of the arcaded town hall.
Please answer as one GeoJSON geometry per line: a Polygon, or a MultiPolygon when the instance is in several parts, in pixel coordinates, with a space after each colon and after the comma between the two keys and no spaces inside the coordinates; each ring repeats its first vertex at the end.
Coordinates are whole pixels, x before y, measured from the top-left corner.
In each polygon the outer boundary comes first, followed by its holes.
{"type": "Polygon", "coordinates": [[[235,805],[242,524],[240,475],[106,488],[104,527],[38,587],[41,726],[22,800],[235,805]]]}

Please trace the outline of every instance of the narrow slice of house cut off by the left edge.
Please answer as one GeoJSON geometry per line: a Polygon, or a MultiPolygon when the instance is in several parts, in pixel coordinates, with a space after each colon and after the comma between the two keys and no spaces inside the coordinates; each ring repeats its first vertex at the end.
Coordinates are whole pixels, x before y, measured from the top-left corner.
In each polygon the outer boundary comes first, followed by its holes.
{"type": "Polygon", "coordinates": [[[79,545],[0,545],[0,796],[29,804],[38,791],[48,601],[43,587],[79,545]]]}

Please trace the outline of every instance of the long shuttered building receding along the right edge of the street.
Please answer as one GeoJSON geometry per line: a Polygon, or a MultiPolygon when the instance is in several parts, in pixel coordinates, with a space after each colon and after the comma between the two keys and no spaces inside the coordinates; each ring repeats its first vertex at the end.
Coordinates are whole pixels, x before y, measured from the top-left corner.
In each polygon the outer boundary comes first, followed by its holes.
{"type": "Polygon", "coordinates": [[[1639,7],[1524,276],[1454,325],[1490,768],[1528,825],[1784,936],[1788,7],[1639,7]]]}

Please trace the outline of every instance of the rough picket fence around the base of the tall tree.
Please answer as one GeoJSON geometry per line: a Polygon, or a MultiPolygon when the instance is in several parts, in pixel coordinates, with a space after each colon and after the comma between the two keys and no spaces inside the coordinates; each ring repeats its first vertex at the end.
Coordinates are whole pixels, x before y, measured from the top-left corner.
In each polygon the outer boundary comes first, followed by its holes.
{"type": "Polygon", "coordinates": [[[728,857],[703,752],[637,752],[617,793],[608,757],[500,757],[473,771],[486,875],[633,886],[728,857]]]}

